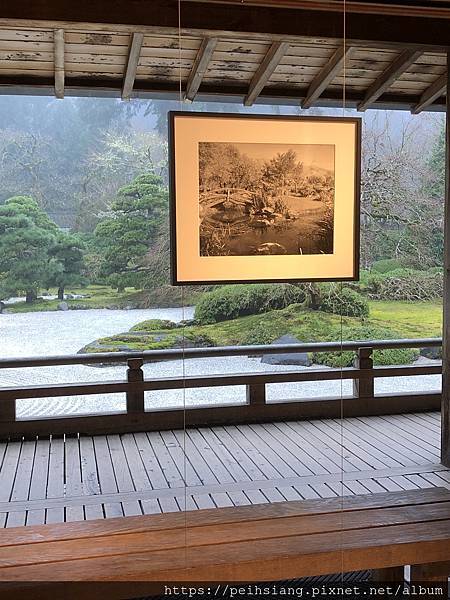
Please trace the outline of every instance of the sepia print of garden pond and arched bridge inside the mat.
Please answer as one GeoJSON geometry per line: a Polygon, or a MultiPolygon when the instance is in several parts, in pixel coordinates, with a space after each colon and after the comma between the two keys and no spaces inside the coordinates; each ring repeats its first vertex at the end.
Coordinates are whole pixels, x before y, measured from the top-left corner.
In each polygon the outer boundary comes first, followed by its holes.
{"type": "Polygon", "coordinates": [[[334,145],[199,142],[201,256],[332,254],[334,145]]]}

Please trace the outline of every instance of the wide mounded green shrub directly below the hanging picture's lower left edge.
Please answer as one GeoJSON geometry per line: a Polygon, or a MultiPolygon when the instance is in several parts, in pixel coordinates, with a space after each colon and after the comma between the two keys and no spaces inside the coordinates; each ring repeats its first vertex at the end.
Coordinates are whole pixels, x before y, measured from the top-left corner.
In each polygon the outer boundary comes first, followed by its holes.
{"type": "Polygon", "coordinates": [[[202,325],[255,315],[303,302],[304,291],[289,284],[226,285],[206,292],[195,307],[195,320],[202,325]]]}

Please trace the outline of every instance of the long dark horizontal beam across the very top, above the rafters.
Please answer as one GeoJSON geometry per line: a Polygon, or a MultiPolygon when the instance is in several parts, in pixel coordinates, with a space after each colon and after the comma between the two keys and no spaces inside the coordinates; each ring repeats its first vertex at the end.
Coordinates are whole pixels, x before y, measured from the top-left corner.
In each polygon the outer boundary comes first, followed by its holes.
{"type": "MultiPolygon", "coordinates": [[[[57,29],[91,29],[93,31],[145,31],[150,28],[178,30],[179,14],[177,0],[152,0],[152,10],[144,0],[134,2],[110,2],[109,0],[14,0],[3,2],[0,24],[5,27],[45,27],[57,29]]],[[[246,2],[230,6],[225,2],[183,0],[181,2],[182,35],[192,32],[222,37],[230,31],[239,34],[336,39],[343,35],[342,12],[311,8],[285,8],[261,6],[255,9],[246,2]],[[226,30],[224,32],[224,30],[226,30]],[[221,33],[222,32],[222,33],[221,33]]],[[[441,17],[347,13],[348,39],[373,44],[397,44],[402,49],[415,45],[450,46],[449,20],[441,17]]],[[[237,36],[239,37],[239,36],[237,36]]]]}

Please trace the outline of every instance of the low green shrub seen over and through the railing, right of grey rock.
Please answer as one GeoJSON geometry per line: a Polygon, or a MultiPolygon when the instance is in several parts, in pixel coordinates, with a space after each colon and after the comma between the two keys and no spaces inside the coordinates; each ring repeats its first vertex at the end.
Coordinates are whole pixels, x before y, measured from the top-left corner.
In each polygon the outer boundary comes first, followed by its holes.
{"type": "MultiPolygon", "coordinates": [[[[361,327],[343,327],[342,339],[357,342],[364,340],[393,340],[402,336],[386,327],[376,325],[361,327]]],[[[331,340],[330,340],[331,341],[331,340]]],[[[313,362],[334,368],[351,367],[355,358],[354,352],[316,352],[313,362]]],[[[394,348],[390,350],[375,350],[373,362],[375,365],[407,365],[419,356],[415,348],[394,348]]]]}

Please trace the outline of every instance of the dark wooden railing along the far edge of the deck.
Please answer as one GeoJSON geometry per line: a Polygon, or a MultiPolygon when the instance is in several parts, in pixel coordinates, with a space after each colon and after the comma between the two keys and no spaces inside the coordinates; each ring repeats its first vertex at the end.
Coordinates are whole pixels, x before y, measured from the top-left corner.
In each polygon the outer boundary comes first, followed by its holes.
{"type": "MultiPolygon", "coordinates": [[[[59,365],[126,364],[126,378],[117,381],[62,383],[0,388],[0,439],[50,434],[119,433],[162,430],[183,426],[208,426],[264,422],[285,419],[325,418],[434,410],[440,406],[441,392],[407,392],[376,395],[374,382],[379,377],[405,377],[442,373],[441,364],[374,367],[374,350],[430,348],[442,345],[440,338],[379,340],[364,342],[326,342],[266,346],[228,346],[185,350],[152,350],[142,353],[96,353],[0,360],[0,369],[52,367],[59,365]],[[355,352],[353,367],[343,369],[299,369],[225,375],[194,375],[146,379],[144,363],[190,358],[262,356],[265,354],[355,352]],[[353,395],[319,399],[286,399],[268,402],[266,385],[270,383],[353,380],[353,395]],[[183,388],[246,386],[245,403],[189,406],[177,409],[145,410],[146,391],[183,388]],[[16,416],[16,402],[27,398],[125,393],[126,410],[22,419],[16,416]]],[[[101,406],[99,406],[101,410],[101,406]]]]}

